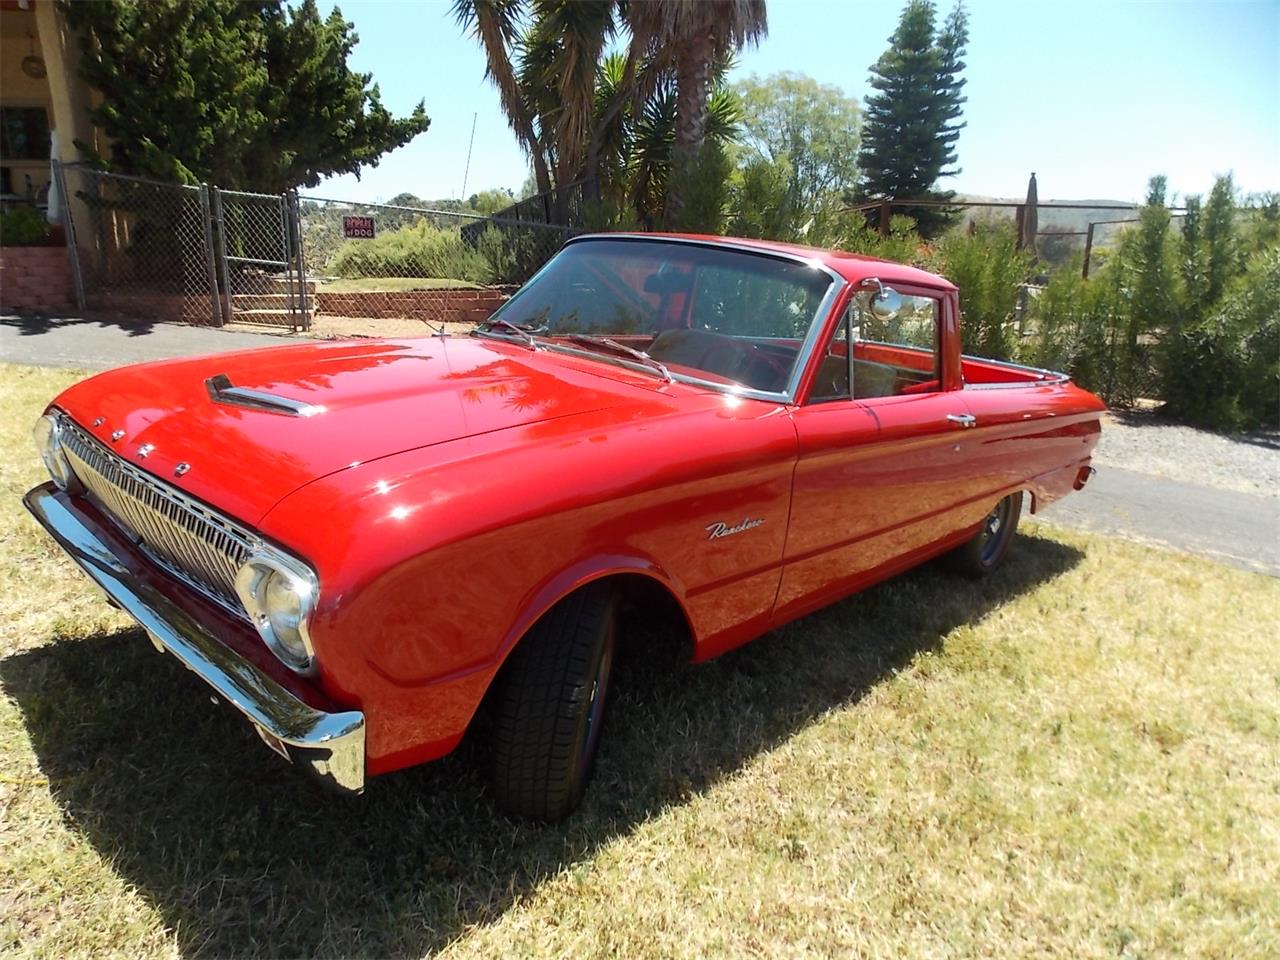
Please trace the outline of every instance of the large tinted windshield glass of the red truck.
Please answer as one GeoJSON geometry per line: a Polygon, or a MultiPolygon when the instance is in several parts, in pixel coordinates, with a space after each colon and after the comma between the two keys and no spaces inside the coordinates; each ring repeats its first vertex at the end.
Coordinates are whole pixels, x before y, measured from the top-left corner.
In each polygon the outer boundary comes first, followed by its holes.
{"type": "Polygon", "coordinates": [[[677,378],[780,393],[832,283],[810,264],[730,247],[579,241],[494,314],[489,332],[516,326],[613,357],[622,344],[677,378]]]}

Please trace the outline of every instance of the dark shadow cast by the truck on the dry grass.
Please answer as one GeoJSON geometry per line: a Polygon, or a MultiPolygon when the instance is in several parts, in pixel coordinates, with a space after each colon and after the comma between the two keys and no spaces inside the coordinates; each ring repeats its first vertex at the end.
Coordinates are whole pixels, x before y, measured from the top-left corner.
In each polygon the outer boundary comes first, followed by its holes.
{"type": "Polygon", "coordinates": [[[495,810],[479,742],[358,799],[324,794],[140,631],[54,640],[0,680],[65,822],[184,955],[421,956],[1082,559],[1033,534],[984,581],[925,567],[707,664],[634,644],[595,781],[556,827],[495,810]]]}

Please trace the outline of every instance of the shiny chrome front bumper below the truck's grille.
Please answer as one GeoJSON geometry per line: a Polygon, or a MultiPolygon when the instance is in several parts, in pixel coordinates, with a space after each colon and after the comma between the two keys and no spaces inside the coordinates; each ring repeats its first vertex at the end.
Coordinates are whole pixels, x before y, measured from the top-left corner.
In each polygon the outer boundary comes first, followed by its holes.
{"type": "Polygon", "coordinates": [[[307,767],[342,792],[365,788],[365,716],[325,713],[302,703],[275,680],[209,632],[159,590],[134,576],[54,484],[23,497],[27,509],[52,534],[152,643],[195,671],[218,696],[244,714],[268,746],[307,767]]]}

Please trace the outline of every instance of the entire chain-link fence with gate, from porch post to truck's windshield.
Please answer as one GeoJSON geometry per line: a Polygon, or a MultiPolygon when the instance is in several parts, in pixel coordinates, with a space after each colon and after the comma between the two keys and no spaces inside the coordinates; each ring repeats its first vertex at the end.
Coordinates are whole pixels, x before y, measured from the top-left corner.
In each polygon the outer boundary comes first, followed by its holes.
{"type": "Polygon", "coordinates": [[[76,165],[61,177],[81,306],[147,320],[320,335],[463,329],[493,314],[573,232],[76,165]]]}

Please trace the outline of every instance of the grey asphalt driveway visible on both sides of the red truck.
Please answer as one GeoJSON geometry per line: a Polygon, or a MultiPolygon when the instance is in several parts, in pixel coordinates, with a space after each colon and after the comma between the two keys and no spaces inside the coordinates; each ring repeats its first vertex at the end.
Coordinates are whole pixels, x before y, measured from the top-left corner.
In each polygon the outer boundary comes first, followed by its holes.
{"type": "MultiPolygon", "coordinates": [[[[81,370],[301,339],[180,324],[0,315],[0,361],[81,370]]],[[[1047,507],[1038,518],[1280,577],[1280,498],[1275,497],[1100,466],[1084,490],[1047,507]]]]}

